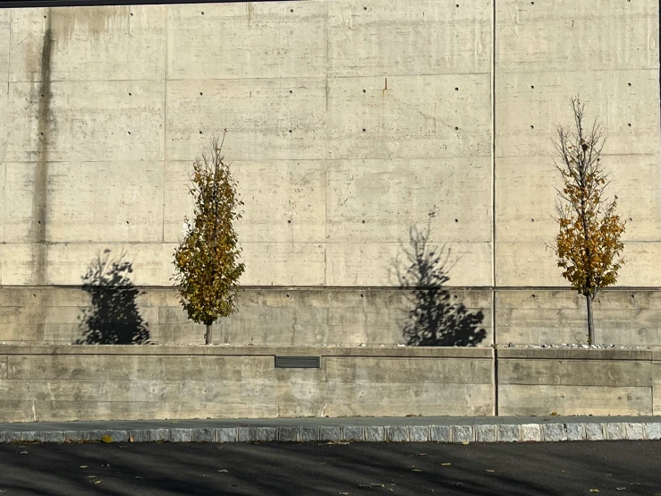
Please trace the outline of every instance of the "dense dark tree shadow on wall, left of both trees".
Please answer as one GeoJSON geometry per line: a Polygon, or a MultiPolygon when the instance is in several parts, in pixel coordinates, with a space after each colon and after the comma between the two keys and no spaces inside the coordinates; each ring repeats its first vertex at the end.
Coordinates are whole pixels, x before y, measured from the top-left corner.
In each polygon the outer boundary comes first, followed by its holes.
{"type": "Polygon", "coordinates": [[[80,317],[84,337],[76,345],[144,345],[149,341],[148,322],[142,320],[136,299],[143,293],[131,282],[133,267],[125,252],[110,258],[110,250],[91,262],[82,277],[82,289],[91,307],[80,317]]]}

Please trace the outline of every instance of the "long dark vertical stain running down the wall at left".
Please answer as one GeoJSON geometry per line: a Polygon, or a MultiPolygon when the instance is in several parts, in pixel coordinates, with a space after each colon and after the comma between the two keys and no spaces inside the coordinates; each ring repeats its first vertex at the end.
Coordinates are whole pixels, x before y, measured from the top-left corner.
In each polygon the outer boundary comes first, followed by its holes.
{"type": "Polygon", "coordinates": [[[48,151],[51,133],[51,66],[53,64],[53,30],[50,13],[47,14],[46,30],[40,58],[38,98],[38,163],[35,165],[34,191],[32,193],[32,284],[47,283],[46,222],[48,205],[48,151]]]}

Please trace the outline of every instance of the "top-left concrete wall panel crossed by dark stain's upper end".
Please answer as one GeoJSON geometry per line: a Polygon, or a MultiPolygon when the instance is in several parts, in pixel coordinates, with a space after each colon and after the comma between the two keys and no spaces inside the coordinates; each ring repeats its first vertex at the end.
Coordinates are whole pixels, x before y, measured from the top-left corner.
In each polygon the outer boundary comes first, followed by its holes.
{"type": "Polygon", "coordinates": [[[154,81],[165,76],[163,5],[9,12],[10,81],[43,81],[45,56],[50,81],[154,81]]]}

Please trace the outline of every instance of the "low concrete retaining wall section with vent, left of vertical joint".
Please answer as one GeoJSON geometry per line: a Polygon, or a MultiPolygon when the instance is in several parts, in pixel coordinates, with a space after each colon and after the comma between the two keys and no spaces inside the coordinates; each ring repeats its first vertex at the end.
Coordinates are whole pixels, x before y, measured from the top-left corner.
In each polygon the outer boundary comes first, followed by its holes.
{"type": "Polygon", "coordinates": [[[456,348],[0,346],[0,422],[491,415],[490,356],[456,348]],[[318,355],[321,367],[275,369],[275,355],[318,355]]]}

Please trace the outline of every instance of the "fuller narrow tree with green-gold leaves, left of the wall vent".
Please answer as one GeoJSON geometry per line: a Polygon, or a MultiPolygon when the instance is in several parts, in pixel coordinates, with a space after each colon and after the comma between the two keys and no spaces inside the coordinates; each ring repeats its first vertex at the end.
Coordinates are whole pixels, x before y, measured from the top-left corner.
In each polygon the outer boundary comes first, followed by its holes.
{"type": "Polygon", "coordinates": [[[194,199],[193,221],[184,218],[187,230],[174,251],[180,301],[192,321],[207,326],[207,345],[211,344],[211,325],[237,310],[234,299],[244,269],[238,262],[241,248],[233,228],[233,221],[242,217],[238,210],[243,202],[222,149],[223,142],[214,137],[211,156],[202,154],[193,163],[189,188],[194,199]]]}

